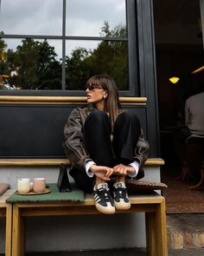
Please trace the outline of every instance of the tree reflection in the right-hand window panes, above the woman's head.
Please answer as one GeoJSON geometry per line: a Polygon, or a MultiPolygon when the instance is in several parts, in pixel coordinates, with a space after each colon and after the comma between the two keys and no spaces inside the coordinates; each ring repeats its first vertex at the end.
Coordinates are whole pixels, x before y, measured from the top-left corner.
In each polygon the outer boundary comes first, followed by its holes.
{"type": "MultiPolygon", "coordinates": [[[[110,30],[105,22],[100,36],[125,37],[126,29],[122,25],[110,30]]],[[[67,87],[70,89],[82,89],[86,79],[96,74],[111,75],[117,82],[118,89],[128,87],[128,56],[127,44],[124,42],[102,41],[93,50],[77,48],[67,57],[67,87]]]]}

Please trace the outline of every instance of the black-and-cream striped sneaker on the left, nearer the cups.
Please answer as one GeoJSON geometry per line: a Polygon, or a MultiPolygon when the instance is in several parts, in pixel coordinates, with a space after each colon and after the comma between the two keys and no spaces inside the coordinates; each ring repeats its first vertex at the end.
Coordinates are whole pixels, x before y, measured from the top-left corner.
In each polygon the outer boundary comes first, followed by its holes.
{"type": "Polygon", "coordinates": [[[114,202],[107,183],[99,183],[92,191],[95,206],[100,213],[113,214],[116,212],[114,202]]]}

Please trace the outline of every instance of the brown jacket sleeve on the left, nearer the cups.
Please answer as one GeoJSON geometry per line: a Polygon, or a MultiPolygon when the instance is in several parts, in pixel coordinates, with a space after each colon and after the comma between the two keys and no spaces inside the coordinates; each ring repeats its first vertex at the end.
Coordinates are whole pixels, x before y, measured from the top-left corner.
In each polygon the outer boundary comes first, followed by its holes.
{"type": "Polygon", "coordinates": [[[85,167],[89,155],[83,143],[83,125],[80,109],[74,108],[64,128],[63,148],[68,160],[73,166],[85,167]]]}

